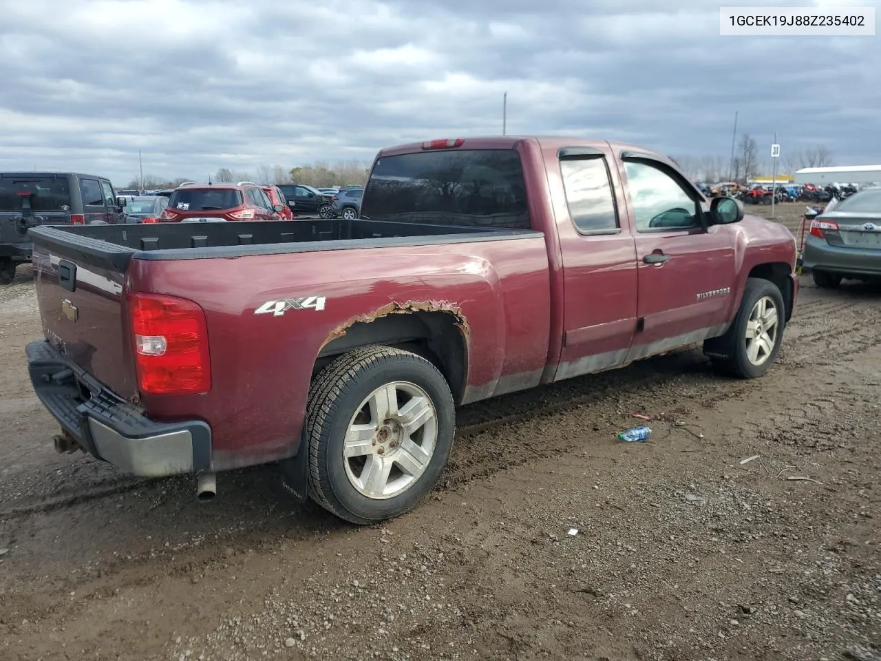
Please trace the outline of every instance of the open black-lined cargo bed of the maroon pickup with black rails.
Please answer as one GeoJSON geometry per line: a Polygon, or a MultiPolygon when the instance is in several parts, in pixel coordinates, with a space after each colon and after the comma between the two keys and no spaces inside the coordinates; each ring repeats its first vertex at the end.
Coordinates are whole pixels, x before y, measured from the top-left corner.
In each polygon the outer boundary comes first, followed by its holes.
{"type": "Polygon", "coordinates": [[[208,259],[514,239],[538,234],[532,230],[365,219],[85,225],[31,230],[33,241],[50,252],[113,271],[124,271],[136,256],[208,259]]]}

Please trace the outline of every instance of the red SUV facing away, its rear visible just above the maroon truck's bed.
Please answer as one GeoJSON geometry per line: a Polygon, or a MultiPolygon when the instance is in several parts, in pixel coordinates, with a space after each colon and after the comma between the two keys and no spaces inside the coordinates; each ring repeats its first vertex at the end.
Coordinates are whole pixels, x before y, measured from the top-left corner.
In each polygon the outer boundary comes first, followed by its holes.
{"type": "Polygon", "coordinates": [[[279,220],[281,204],[272,204],[254,182],[182,183],[159,216],[162,223],[205,223],[225,220],[279,220]]]}

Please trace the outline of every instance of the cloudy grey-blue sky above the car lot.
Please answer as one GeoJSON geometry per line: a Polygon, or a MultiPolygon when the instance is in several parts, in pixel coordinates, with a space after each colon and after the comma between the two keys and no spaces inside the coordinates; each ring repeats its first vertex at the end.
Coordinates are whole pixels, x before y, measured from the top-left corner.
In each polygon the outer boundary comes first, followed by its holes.
{"type": "Polygon", "coordinates": [[[706,0],[0,0],[0,170],[369,161],[500,134],[506,92],[510,135],[727,159],[737,112],[760,156],[881,163],[881,37],[719,32],[706,0]]]}

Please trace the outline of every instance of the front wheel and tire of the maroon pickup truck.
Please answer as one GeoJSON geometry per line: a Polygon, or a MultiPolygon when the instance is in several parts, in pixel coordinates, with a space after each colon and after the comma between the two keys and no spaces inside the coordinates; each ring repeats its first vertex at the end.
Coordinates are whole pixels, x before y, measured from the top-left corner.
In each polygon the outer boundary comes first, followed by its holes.
{"type": "Polygon", "coordinates": [[[722,374],[741,379],[755,379],[764,375],[780,353],[786,326],[785,310],[783,294],[778,286],[766,279],[747,279],[744,297],[740,301],[734,322],[721,338],[707,340],[704,352],[710,355],[714,367],[722,374]],[[773,328],[769,321],[770,316],[764,316],[764,323],[759,325],[759,331],[766,339],[759,343],[756,360],[751,360],[753,342],[747,331],[755,331],[754,317],[760,311],[759,302],[764,303],[766,309],[773,305],[776,315],[773,328]]]}

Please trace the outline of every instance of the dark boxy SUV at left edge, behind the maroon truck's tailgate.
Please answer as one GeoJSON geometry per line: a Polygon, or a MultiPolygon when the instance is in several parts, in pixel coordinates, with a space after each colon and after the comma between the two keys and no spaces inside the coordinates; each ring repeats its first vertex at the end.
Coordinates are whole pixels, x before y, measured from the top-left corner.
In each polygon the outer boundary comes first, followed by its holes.
{"type": "MultiPolygon", "coordinates": [[[[61,172],[0,172],[0,285],[31,259],[28,227],[124,222],[105,177],[61,172]]],[[[124,202],[124,199],[123,199],[124,202]]]]}

